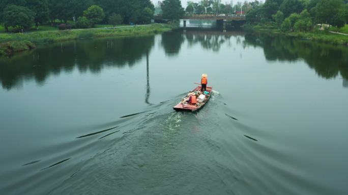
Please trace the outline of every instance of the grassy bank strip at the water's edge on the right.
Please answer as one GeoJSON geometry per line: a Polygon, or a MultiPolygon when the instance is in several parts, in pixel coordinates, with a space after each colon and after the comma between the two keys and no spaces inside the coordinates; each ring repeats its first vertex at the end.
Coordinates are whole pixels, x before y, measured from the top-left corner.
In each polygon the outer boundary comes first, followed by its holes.
{"type": "Polygon", "coordinates": [[[245,30],[249,31],[259,31],[259,32],[269,32],[269,33],[279,33],[285,36],[294,36],[304,40],[311,40],[320,43],[327,43],[333,45],[345,45],[348,44],[348,36],[343,34],[335,34],[329,31],[313,30],[311,32],[282,32],[279,29],[274,28],[274,26],[267,25],[246,25],[245,30]]]}

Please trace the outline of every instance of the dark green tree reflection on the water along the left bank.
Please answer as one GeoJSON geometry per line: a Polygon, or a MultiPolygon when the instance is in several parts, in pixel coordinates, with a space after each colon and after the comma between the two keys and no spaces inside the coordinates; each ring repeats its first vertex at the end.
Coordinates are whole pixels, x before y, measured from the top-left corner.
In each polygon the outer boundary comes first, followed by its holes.
{"type": "Polygon", "coordinates": [[[104,66],[133,66],[154,46],[154,36],[117,38],[112,41],[95,39],[66,42],[38,48],[11,59],[0,59],[0,81],[3,88],[19,86],[23,80],[43,83],[51,74],[100,72],[104,66]],[[107,43],[112,42],[112,46],[107,43]]]}

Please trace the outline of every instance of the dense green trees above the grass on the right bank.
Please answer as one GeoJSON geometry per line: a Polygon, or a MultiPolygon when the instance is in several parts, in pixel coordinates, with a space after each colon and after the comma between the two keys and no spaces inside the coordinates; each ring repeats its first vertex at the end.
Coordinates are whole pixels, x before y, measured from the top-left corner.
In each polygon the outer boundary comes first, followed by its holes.
{"type": "MultiPolygon", "coordinates": [[[[257,1],[255,1],[257,2],[257,1]]],[[[250,24],[275,24],[282,31],[310,31],[316,24],[342,27],[348,0],[266,0],[246,14],[250,24]]]]}

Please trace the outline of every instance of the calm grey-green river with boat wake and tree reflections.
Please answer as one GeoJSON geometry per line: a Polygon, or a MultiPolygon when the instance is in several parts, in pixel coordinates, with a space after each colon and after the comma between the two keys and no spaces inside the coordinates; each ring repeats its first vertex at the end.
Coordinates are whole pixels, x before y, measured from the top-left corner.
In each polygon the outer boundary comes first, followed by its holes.
{"type": "Polygon", "coordinates": [[[0,58],[0,84],[0,194],[348,194],[347,47],[187,28],[0,58]]]}

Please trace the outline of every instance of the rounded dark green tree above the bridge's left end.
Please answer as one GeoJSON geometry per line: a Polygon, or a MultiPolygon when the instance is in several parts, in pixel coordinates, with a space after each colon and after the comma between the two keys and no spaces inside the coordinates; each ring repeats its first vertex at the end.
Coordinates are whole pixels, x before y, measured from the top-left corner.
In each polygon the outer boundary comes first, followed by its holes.
{"type": "Polygon", "coordinates": [[[162,4],[163,17],[170,20],[179,20],[184,15],[184,8],[180,0],[164,0],[162,4]]]}

